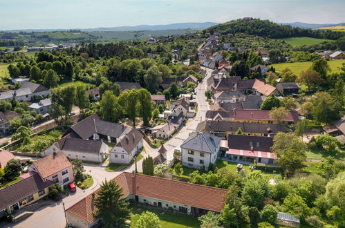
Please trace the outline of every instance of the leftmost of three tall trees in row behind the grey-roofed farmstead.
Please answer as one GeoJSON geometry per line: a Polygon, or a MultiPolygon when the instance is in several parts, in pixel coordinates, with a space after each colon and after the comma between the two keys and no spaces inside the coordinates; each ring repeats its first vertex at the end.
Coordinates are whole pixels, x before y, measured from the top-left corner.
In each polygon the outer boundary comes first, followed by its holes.
{"type": "Polygon", "coordinates": [[[118,97],[111,91],[106,91],[100,100],[100,115],[102,120],[118,122],[122,107],[118,104],[118,97]]]}

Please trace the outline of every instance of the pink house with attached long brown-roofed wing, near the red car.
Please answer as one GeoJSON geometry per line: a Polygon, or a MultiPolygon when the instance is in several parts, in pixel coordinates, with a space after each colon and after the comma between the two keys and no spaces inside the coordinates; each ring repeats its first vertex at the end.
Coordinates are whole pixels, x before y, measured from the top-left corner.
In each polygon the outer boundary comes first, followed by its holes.
{"type": "Polygon", "coordinates": [[[29,175],[19,182],[0,189],[0,217],[5,216],[6,210],[14,213],[41,200],[52,185],[63,187],[74,180],[72,164],[62,152],[33,162],[28,171],[29,175]]]}

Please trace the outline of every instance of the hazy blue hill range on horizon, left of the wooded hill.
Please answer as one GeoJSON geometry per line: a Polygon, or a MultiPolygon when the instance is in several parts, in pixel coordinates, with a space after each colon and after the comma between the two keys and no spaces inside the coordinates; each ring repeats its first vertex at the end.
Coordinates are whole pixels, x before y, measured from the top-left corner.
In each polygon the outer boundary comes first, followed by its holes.
{"type": "MultiPolygon", "coordinates": [[[[167,25],[140,25],[140,26],[119,26],[119,27],[100,27],[100,28],[76,28],[84,32],[94,31],[144,31],[144,30],[180,30],[180,29],[205,29],[214,26],[218,23],[203,22],[203,23],[171,23],[167,25]]],[[[64,31],[68,29],[22,29],[22,30],[6,30],[6,32],[52,32],[64,31]]]]}

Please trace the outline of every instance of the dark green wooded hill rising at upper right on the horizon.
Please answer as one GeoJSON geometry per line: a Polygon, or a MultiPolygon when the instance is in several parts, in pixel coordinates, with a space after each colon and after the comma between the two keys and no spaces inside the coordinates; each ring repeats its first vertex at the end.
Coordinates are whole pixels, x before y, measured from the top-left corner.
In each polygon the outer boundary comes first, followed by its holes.
{"type": "Polygon", "coordinates": [[[305,28],[294,28],[292,26],[279,25],[272,21],[252,19],[237,19],[228,21],[207,28],[206,32],[221,34],[234,34],[243,32],[248,35],[268,37],[272,39],[289,38],[289,37],[313,37],[319,39],[339,39],[344,35],[342,32],[333,32],[330,30],[310,30],[305,28]]]}

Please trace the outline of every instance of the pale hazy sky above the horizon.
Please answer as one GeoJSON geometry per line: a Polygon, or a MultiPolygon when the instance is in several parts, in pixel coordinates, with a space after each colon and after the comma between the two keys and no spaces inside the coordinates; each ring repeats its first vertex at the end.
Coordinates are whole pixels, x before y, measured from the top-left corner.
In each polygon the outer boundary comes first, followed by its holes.
{"type": "Polygon", "coordinates": [[[0,30],[98,28],[242,17],[345,22],[345,0],[0,0],[0,30]]]}

